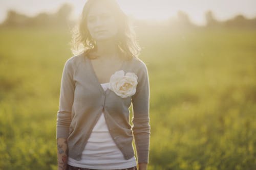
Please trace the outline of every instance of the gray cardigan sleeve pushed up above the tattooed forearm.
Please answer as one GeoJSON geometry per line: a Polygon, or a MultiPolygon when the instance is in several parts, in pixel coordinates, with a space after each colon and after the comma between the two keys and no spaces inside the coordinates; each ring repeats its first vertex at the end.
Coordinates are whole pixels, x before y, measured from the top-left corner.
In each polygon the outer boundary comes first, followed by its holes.
{"type": "Polygon", "coordinates": [[[56,138],[67,138],[71,123],[75,84],[71,60],[67,60],[60,83],[59,109],[57,111],[56,138]]]}

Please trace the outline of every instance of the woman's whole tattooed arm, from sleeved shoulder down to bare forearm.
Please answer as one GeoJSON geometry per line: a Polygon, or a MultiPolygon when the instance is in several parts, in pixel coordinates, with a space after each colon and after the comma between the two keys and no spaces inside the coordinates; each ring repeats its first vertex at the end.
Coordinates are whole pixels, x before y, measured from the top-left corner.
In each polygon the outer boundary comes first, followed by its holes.
{"type": "Polygon", "coordinates": [[[59,110],[57,112],[56,139],[59,170],[66,170],[68,165],[68,137],[75,90],[73,72],[72,61],[69,59],[62,72],[59,110]]]}

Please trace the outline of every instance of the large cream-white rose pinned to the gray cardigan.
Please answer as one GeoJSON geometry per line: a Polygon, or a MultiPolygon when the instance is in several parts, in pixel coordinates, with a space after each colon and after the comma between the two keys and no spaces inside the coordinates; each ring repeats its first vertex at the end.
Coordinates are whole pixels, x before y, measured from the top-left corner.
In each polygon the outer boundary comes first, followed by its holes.
{"type": "Polygon", "coordinates": [[[127,98],[136,93],[137,80],[138,77],[134,72],[127,72],[124,75],[124,71],[119,70],[110,77],[109,89],[121,98],[127,98]]]}

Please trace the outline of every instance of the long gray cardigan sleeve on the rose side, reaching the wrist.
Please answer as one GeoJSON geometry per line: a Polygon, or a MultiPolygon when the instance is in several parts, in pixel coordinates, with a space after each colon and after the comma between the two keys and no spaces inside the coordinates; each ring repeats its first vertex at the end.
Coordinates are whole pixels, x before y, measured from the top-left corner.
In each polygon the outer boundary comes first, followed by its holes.
{"type": "MultiPolygon", "coordinates": [[[[143,63],[143,62],[142,62],[143,63]]],[[[148,80],[147,67],[143,63],[138,70],[138,84],[136,93],[132,96],[133,104],[133,134],[136,145],[138,163],[148,163],[150,148],[150,83],[148,80]]]]}

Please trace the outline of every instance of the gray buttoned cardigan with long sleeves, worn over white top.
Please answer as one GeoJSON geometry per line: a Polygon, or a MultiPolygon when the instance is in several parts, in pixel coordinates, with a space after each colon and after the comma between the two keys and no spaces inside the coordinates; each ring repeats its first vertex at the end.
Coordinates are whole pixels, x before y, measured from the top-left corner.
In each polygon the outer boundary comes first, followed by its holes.
{"type": "Polygon", "coordinates": [[[148,163],[150,147],[150,84],[145,63],[133,57],[121,66],[126,72],[134,72],[138,77],[136,93],[121,98],[109,88],[100,85],[91,60],[83,55],[69,58],[62,72],[59,110],[57,112],[56,138],[67,138],[69,156],[81,160],[82,151],[91,131],[103,112],[110,134],[125,159],[135,153],[138,163],[148,163]],[[133,105],[133,126],[129,123],[133,105]]]}

